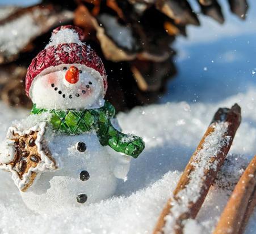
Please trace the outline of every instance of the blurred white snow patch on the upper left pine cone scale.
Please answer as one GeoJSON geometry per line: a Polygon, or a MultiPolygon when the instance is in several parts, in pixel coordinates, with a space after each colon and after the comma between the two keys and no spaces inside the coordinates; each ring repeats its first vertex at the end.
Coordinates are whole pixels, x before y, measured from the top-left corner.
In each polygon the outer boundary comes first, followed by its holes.
{"type": "Polygon", "coordinates": [[[14,55],[23,49],[40,32],[33,19],[33,14],[20,16],[18,19],[0,27],[0,53],[14,55]]]}

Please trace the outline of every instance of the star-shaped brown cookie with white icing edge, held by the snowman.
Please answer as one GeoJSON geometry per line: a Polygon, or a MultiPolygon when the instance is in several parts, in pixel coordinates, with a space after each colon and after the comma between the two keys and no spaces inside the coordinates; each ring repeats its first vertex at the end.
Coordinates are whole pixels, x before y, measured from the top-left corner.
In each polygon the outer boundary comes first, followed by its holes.
{"type": "Polygon", "coordinates": [[[10,127],[5,151],[0,154],[0,168],[12,172],[16,186],[26,192],[37,174],[56,170],[56,162],[44,141],[45,122],[26,131],[10,127]]]}

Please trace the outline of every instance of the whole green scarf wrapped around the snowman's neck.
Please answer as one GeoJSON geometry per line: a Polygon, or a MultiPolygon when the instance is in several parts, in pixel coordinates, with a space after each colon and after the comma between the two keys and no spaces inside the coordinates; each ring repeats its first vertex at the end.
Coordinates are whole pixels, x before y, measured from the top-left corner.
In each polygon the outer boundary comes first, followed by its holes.
{"type": "Polygon", "coordinates": [[[102,146],[108,145],[133,158],[137,158],[145,148],[141,137],[124,134],[113,127],[111,119],[115,116],[115,108],[107,101],[99,109],[48,110],[33,105],[31,114],[43,112],[51,113],[49,122],[58,133],[78,135],[95,131],[102,146]]]}

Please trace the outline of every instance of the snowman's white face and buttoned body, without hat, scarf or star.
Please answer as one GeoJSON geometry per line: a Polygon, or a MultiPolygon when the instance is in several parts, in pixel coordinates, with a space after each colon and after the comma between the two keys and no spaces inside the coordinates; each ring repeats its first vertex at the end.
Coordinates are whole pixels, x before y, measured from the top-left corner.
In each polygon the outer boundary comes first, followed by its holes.
{"type": "MultiPolygon", "coordinates": [[[[37,106],[63,110],[102,107],[103,93],[99,73],[81,64],[49,67],[30,89],[30,97],[37,106]],[[70,84],[66,74],[74,67],[79,75],[70,84]]],[[[32,186],[21,192],[31,210],[42,213],[100,201],[115,192],[117,178],[125,179],[128,174],[131,157],[100,145],[94,131],[69,136],[53,133],[49,128],[44,138],[57,170],[39,174],[32,186]],[[78,142],[86,145],[85,151],[77,149],[78,142]],[[86,179],[81,180],[81,173],[86,174],[86,179]]]]}

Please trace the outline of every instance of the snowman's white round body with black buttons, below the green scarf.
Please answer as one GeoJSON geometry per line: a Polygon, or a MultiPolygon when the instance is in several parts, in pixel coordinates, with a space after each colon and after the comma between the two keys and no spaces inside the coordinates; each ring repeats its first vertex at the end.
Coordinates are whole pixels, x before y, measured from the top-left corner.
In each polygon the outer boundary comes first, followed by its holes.
{"type": "Polygon", "coordinates": [[[117,177],[127,176],[129,158],[101,146],[94,132],[52,135],[46,140],[58,169],[39,175],[26,192],[21,192],[31,210],[44,212],[100,201],[114,193],[117,177]],[[85,143],[85,151],[78,151],[78,142],[85,143]],[[81,194],[87,199],[79,203],[77,197],[81,194]]]}

